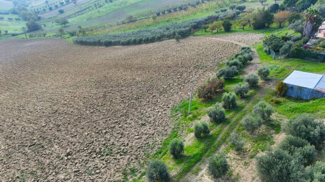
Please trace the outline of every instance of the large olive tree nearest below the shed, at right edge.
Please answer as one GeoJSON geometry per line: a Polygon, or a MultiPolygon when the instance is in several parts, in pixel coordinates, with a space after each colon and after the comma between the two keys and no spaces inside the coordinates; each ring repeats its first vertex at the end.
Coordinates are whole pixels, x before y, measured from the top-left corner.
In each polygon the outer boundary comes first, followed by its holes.
{"type": "Polygon", "coordinates": [[[282,126],[287,135],[300,137],[312,145],[325,141],[325,125],[321,121],[315,121],[310,114],[293,116],[282,126]]]}

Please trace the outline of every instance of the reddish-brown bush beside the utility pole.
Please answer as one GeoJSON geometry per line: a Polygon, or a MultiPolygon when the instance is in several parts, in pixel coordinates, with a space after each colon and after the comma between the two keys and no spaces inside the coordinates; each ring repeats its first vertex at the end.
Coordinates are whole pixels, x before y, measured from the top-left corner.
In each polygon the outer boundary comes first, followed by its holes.
{"type": "Polygon", "coordinates": [[[198,98],[210,99],[214,94],[224,88],[224,82],[221,79],[211,78],[207,81],[207,84],[203,84],[198,89],[198,98]]]}

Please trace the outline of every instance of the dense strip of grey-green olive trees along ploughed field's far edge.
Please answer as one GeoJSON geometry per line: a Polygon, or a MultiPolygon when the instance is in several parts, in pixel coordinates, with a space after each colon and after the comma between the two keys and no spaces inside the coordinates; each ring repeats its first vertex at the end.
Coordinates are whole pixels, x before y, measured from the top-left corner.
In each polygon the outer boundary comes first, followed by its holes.
{"type": "MultiPolygon", "coordinates": [[[[165,25],[158,26],[156,28],[141,29],[132,32],[123,32],[117,34],[106,35],[92,35],[87,37],[75,37],[73,41],[83,45],[130,45],[130,44],[142,44],[154,41],[160,41],[163,38],[180,37],[188,35],[193,30],[200,28],[202,25],[209,21],[215,21],[223,19],[223,17],[230,16],[231,18],[239,15],[239,10],[225,11],[216,15],[211,15],[202,18],[193,18],[184,20],[181,22],[172,22],[165,25]]],[[[223,26],[231,27],[231,23],[225,21],[223,26]]]]}

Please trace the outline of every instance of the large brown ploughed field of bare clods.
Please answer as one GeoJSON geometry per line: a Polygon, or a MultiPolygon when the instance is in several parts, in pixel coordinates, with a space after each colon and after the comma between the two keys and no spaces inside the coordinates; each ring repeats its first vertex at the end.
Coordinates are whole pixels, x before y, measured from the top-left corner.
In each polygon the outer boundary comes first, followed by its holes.
{"type": "Polygon", "coordinates": [[[123,47],[2,41],[0,181],[118,181],[143,169],[191,76],[201,84],[238,50],[205,37],[123,47]]]}

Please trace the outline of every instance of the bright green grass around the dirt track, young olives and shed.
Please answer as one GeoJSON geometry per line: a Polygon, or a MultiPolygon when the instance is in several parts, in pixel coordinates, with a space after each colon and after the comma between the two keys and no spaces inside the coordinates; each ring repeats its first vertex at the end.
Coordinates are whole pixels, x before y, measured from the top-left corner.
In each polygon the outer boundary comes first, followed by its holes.
{"type": "MultiPolygon", "coordinates": [[[[276,31],[276,30],[275,30],[276,31]]],[[[269,33],[270,31],[266,31],[269,33]]],[[[325,63],[316,63],[312,61],[305,61],[300,59],[282,59],[273,60],[269,55],[263,52],[262,45],[255,46],[258,55],[262,63],[267,63],[271,69],[269,77],[283,78],[290,74],[292,70],[307,71],[313,73],[325,73],[325,63]]],[[[230,91],[233,85],[237,82],[241,82],[239,79],[232,79],[226,81],[226,91],[230,91]]],[[[270,80],[272,81],[272,80],[270,80]]],[[[278,80],[275,80],[276,82],[278,80]]],[[[175,119],[175,128],[169,135],[169,137],[161,144],[162,147],[156,151],[149,160],[160,159],[168,166],[170,173],[174,179],[181,179],[186,175],[197,175],[202,169],[204,159],[214,154],[220,148],[223,148],[226,152],[232,150],[232,146],[228,144],[229,136],[232,131],[242,133],[246,142],[249,144],[249,149],[246,149],[248,157],[254,158],[258,152],[266,150],[268,146],[274,144],[272,135],[280,132],[280,122],[272,120],[266,123],[263,130],[259,135],[251,136],[241,127],[240,120],[244,115],[248,114],[252,110],[252,106],[260,100],[265,100],[272,104],[275,108],[274,115],[280,115],[286,119],[291,118],[293,115],[301,113],[311,113],[318,118],[325,118],[325,103],[324,99],[317,100],[301,100],[290,97],[278,97],[274,94],[274,88],[259,87],[249,92],[248,96],[244,99],[238,100],[238,107],[232,110],[226,111],[227,121],[221,124],[211,123],[209,125],[211,133],[201,139],[195,139],[192,135],[194,122],[201,120],[206,114],[206,109],[216,102],[220,102],[221,93],[212,101],[204,102],[195,98],[191,104],[191,115],[187,116],[188,102],[183,101],[180,105],[174,108],[173,116],[175,119]],[[279,103],[274,104],[272,101],[278,100],[279,103]],[[189,139],[188,139],[188,136],[189,139]],[[184,156],[180,159],[174,160],[168,152],[169,142],[173,138],[186,138],[190,140],[184,148],[184,156]]],[[[244,167],[247,163],[242,163],[244,167]]],[[[134,181],[141,181],[142,175],[134,181]]],[[[230,175],[235,179],[235,174],[230,175]]]]}

